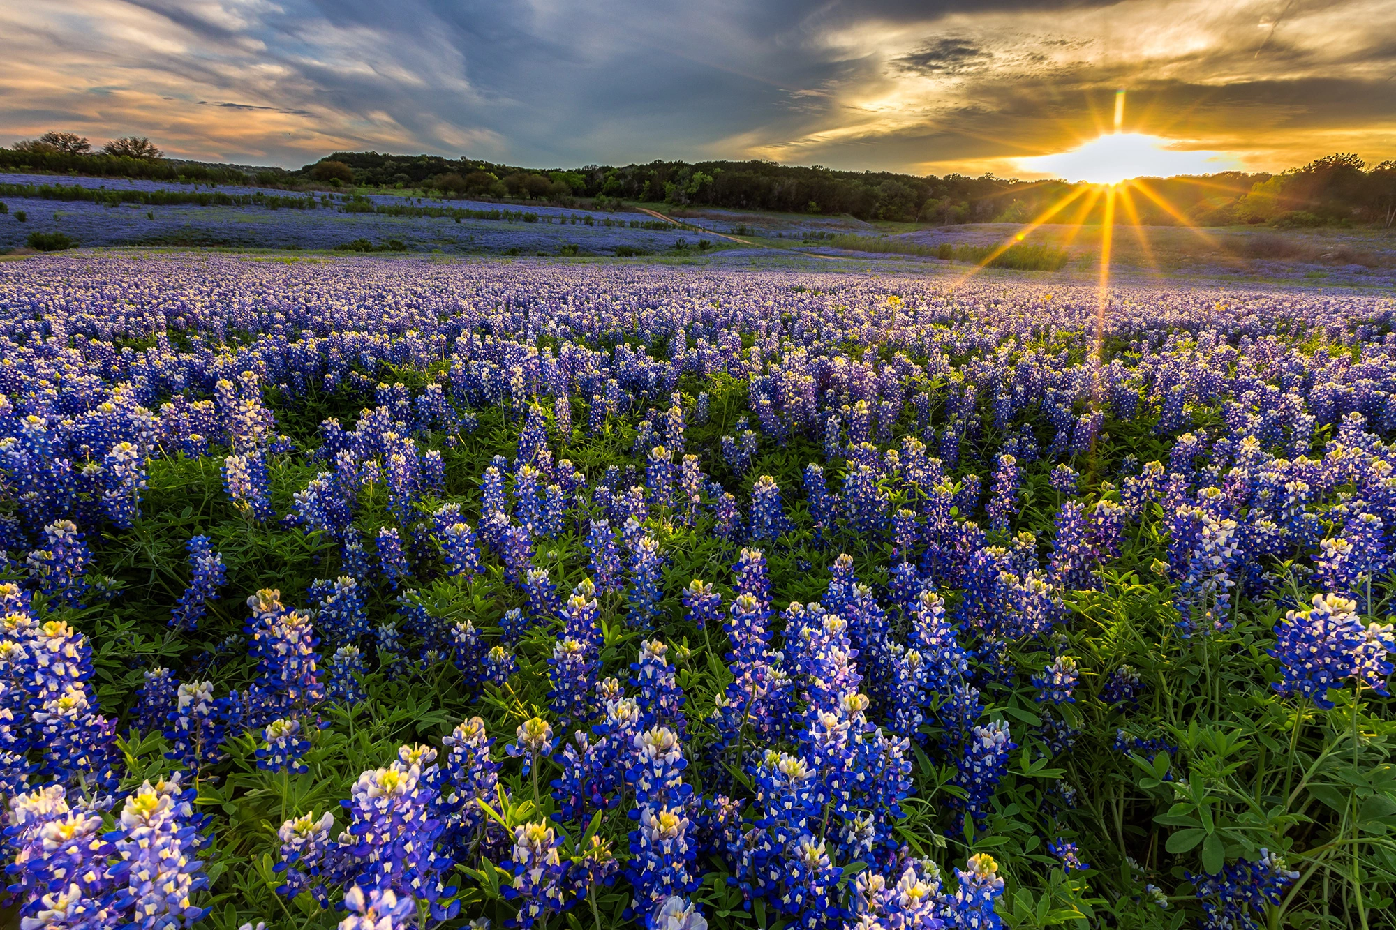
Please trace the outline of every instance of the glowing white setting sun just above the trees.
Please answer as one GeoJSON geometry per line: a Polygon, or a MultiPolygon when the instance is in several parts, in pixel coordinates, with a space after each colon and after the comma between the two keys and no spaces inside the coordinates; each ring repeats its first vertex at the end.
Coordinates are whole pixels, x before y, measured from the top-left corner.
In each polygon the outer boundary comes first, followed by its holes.
{"type": "Polygon", "coordinates": [[[1118,184],[1135,177],[1215,175],[1231,168],[1222,152],[1180,149],[1177,141],[1143,133],[1111,133],[1069,152],[1019,158],[1018,166],[1069,182],[1118,184]]]}

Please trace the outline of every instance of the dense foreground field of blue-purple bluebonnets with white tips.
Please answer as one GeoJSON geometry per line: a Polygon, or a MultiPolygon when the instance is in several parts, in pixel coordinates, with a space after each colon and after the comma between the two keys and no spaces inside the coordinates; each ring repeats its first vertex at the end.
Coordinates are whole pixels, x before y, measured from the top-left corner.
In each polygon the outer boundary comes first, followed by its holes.
{"type": "Polygon", "coordinates": [[[1392,926],[1393,316],[0,265],[8,926],[1392,926]]]}

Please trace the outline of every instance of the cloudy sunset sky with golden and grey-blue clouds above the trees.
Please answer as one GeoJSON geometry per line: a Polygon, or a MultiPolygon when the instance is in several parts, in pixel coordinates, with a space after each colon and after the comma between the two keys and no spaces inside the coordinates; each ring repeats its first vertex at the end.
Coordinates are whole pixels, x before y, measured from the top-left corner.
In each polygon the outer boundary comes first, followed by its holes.
{"type": "Polygon", "coordinates": [[[286,168],[371,148],[1058,176],[1121,89],[1120,130],[1166,165],[1375,163],[1393,78],[1392,0],[0,0],[0,144],[135,134],[286,168]]]}

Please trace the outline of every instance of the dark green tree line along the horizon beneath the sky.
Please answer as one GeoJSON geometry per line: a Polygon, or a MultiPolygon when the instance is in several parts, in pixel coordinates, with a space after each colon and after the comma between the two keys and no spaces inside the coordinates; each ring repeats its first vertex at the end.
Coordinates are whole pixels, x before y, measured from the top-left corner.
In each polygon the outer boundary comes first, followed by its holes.
{"type": "MultiPolygon", "coordinates": [[[[247,172],[230,165],[162,158],[145,137],[126,135],[94,151],[75,133],[50,131],[0,149],[0,170],[88,173],[282,189],[410,189],[447,198],[544,201],[606,207],[620,201],[670,208],[722,207],[859,219],[952,225],[1029,222],[1062,201],[1058,222],[1100,222],[1104,198],[1061,180],[980,175],[917,176],[853,172],[769,161],[653,161],[530,169],[469,158],[334,152],[296,170],[247,172]],[[1076,194],[1074,198],[1072,195],[1076,194]]],[[[1396,225],[1396,161],[1368,166],[1328,155],[1279,173],[1220,172],[1143,179],[1127,189],[1121,222],[1223,226],[1396,225]]]]}

